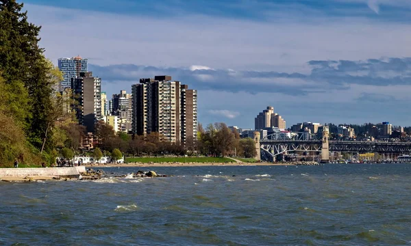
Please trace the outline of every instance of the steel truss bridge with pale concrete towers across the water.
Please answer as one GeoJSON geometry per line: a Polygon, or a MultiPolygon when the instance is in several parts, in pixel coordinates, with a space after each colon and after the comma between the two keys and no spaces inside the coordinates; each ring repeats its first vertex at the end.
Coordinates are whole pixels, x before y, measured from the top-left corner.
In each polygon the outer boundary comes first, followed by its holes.
{"type": "Polygon", "coordinates": [[[257,156],[266,161],[274,159],[279,154],[290,152],[321,152],[321,161],[329,161],[329,152],[377,152],[380,154],[411,153],[410,142],[388,141],[329,141],[328,129],[323,131],[322,139],[313,139],[307,133],[295,133],[294,137],[281,136],[278,133],[260,139],[255,136],[257,156]]]}

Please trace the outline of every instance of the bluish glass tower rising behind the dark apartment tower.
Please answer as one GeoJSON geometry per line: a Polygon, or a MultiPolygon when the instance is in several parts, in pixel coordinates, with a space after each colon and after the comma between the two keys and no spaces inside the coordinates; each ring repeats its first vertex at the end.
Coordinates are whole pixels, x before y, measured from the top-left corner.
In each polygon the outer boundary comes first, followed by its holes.
{"type": "Polygon", "coordinates": [[[82,57],[60,58],[58,68],[63,72],[63,81],[60,83],[60,91],[71,87],[71,79],[80,76],[80,72],[88,71],[88,60],[82,57]]]}

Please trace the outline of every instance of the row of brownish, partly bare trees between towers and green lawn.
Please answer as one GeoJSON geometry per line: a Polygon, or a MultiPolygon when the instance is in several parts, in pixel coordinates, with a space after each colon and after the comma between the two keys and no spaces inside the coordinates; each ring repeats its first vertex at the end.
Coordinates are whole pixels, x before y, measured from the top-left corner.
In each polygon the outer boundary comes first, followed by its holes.
{"type": "Polygon", "coordinates": [[[112,126],[99,122],[96,135],[99,150],[110,154],[119,149],[129,156],[155,155],[206,155],[206,156],[241,156],[251,158],[256,155],[254,141],[251,138],[240,139],[237,132],[232,132],[224,123],[209,124],[203,129],[199,124],[196,139],[183,143],[171,143],[158,133],[146,136],[127,135],[123,132],[114,133],[112,126]]]}

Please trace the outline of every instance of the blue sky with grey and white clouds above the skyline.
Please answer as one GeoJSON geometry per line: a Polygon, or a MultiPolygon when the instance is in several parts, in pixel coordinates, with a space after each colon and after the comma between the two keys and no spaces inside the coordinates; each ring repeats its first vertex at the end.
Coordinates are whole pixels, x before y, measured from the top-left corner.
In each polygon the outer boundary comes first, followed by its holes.
{"type": "Polygon", "coordinates": [[[168,74],[199,121],[410,126],[410,0],[26,0],[41,45],[89,59],[108,94],[168,74]]]}

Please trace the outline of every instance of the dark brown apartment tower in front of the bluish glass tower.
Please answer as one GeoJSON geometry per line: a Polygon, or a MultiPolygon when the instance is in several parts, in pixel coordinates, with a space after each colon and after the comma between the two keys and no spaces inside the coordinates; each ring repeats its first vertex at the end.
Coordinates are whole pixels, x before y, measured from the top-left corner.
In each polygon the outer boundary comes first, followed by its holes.
{"type": "Polygon", "coordinates": [[[86,126],[88,133],[95,132],[95,124],[101,120],[101,79],[92,72],[80,72],[71,79],[73,99],[77,100],[75,112],[79,124],[86,126]]]}

